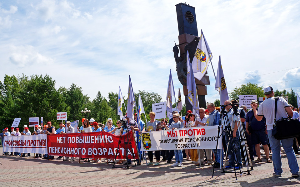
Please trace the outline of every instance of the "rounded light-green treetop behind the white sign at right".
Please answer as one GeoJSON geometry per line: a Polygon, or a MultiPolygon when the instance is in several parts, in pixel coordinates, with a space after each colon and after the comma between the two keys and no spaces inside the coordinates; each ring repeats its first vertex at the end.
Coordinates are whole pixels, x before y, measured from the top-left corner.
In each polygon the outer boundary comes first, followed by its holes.
{"type": "Polygon", "coordinates": [[[232,91],[229,93],[229,98],[236,99],[238,95],[257,95],[258,97],[264,97],[263,87],[258,84],[247,83],[242,84],[240,87],[234,87],[232,91]]]}

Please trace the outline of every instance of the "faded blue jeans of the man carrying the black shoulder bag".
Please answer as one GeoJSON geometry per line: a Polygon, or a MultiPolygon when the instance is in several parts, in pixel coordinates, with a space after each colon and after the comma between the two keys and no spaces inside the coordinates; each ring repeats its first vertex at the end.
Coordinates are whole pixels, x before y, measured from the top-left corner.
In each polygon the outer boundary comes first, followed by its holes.
{"type": "Polygon", "coordinates": [[[267,130],[269,142],[271,146],[271,150],[273,152],[272,159],[273,159],[273,166],[275,174],[281,174],[281,157],[280,157],[280,141],[282,143],[282,147],[287,154],[287,162],[292,174],[297,174],[299,171],[299,166],[297,163],[296,155],[293,150],[293,139],[288,138],[284,140],[277,140],[272,136],[272,130],[267,130]]]}

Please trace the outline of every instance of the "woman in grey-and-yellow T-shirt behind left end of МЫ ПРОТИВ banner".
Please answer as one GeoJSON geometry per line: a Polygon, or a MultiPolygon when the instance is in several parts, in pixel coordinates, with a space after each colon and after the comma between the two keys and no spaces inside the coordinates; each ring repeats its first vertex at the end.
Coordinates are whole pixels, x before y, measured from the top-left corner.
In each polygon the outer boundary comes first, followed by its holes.
{"type": "MultiPolygon", "coordinates": [[[[155,113],[150,112],[150,121],[147,122],[146,126],[146,132],[151,132],[151,131],[161,131],[162,130],[162,125],[160,121],[155,120],[155,113]]],[[[160,151],[154,151],[155,157],[156,157],[156,162],[154,165],[159,165],[159,160],[160,160],[160,151]]],[[[153,151],[148,151],[148,156],[149,156],[149,162],[147,165],[153,165],[153,151]]]]}

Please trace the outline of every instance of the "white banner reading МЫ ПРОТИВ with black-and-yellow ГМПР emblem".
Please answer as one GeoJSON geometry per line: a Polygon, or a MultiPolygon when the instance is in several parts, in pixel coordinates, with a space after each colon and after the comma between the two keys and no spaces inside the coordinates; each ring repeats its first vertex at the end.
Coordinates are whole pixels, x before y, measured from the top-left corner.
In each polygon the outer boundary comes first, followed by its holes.
{"type": "MultiPolygon", "coordinates": [[[[217,134],[218,126],[145,132],[142,133],[141,151],[215,149],[217,134]]],[[[222,149],[222,136],[218,142],[218,149],[222,149]]]]}

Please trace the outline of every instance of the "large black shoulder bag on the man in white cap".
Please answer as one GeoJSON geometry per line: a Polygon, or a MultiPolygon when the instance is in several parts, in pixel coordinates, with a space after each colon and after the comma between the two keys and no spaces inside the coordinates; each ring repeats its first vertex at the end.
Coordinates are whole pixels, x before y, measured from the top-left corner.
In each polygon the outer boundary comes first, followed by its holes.
{"type": "Polygon", "coordinates": [[[297,119],[292,119],[291,117],[281,118],[276,121],[277,113],[277,101],[279,97],[275,97],[275,119],[272,130],[272,135],[277,140],[283,140],[287,138],[293,138],[300,135],[300,122],[297,119]]]}

